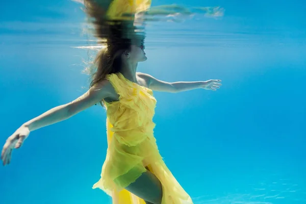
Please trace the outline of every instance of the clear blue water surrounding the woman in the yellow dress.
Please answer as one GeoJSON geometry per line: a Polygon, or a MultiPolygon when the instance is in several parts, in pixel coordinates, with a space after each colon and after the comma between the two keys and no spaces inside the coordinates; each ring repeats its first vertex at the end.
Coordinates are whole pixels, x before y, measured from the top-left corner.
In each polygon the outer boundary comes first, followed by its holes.
{"type": "MultiPolygon", "coordinates": [[[[187,5],[153,1],[171,3],[187,5]]],[[[306,203],[306,3],[187,6],[225,13],[152,23],[139,71],[169,82],[221,79],[223,86],[155,93],[155,136],[169,169],[197,204],[306,203]]],[[[86,91],[88,53],[75,46],[89,37],[71,1],[6,1],[0,11],[4,144],[25,121],[86,91]]],[[[106,155],[105,124],[105,110],[94,106],[32,132],[0,168],[0,203],[110,203],[91,189],[106,155]]]]}

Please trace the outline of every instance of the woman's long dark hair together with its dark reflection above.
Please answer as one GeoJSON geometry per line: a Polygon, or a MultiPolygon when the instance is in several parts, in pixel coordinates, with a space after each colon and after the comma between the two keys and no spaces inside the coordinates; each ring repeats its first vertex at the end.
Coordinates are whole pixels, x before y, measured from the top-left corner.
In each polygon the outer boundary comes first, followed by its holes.
{"type": "MultiPolygon", "coordinates": [[[[97,42],[105,47],[99,50],[92,62],[90,87],[104,80],[108,74],[121,68],[121,55],[131,49],[135,31],[133,21],[108,19],[107,9],[111,1],[84,0],[84,11],[93,24],[93,35],[97,42]]],[[[134,42],[135,43],[135,42],[134,42]]],[[[143,43],[143,42],[142,42],[143,43]]]]}

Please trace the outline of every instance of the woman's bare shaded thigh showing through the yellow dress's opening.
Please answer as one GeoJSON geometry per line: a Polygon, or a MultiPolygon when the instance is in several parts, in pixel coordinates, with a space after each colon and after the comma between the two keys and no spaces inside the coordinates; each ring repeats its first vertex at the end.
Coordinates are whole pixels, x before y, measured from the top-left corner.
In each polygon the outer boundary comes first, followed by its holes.
{"type": "Polygon", "coordinates": [[[125,189],[144,199],[146,204],[162,203],[162,184],[158,178],[148,170],[142,173],[134,183],[130,184],[125,189]]]}

